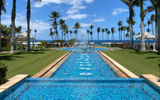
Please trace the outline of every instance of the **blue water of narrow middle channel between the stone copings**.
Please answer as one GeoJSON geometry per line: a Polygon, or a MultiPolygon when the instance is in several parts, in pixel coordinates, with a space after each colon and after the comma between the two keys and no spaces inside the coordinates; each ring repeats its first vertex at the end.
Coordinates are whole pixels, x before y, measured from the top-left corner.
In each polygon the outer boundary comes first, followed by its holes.
{"type": "Polygon", "coordinates": [[[118,78],[98,53],[72,53],[51,78],[118,78]]]}

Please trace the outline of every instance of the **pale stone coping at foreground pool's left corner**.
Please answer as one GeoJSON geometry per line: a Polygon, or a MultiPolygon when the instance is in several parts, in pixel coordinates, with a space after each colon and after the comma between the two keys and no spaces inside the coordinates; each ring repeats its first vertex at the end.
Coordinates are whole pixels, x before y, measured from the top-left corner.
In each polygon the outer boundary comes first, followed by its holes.
{"type": "Polygon", "coordinates": [[[5,84],[0,85],[0,93],[8,90],[9,88],[11,88],[12,86],[16,85],[20,81],[26,79],[27,77],[29,77],[29,75],[20,74],[20,75],[16,75],[16,76],[10,78],[8,80],[8,82],[6,82],[5,84]]]}

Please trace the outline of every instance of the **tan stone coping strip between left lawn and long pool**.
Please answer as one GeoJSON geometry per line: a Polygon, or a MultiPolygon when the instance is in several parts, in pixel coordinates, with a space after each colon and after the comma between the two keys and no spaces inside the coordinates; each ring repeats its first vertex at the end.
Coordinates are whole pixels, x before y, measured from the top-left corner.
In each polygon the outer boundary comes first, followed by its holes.
{"type": "Polygon", "coordinates": [[[43,77],[46,73],[48,73],[51,69],[53,69],[57,64],[59,64],[70,53],[71,53],[71,51],[65,53],[63,56],[59,57],[56,61],[52,62],[47,67],[43,68],[40,72],[33,75],[32,78],[43,77]]]}

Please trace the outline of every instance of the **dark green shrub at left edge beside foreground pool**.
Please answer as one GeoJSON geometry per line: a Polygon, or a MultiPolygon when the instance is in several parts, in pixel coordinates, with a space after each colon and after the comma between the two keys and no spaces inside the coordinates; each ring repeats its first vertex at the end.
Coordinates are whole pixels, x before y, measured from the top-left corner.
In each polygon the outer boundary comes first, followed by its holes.
{"type": "Polygon", "coordinates": [[[0,63],[0,84],[3,84],[7,81],[6,74],[7,74],[7,66],[3,63],[0,63]]]}

